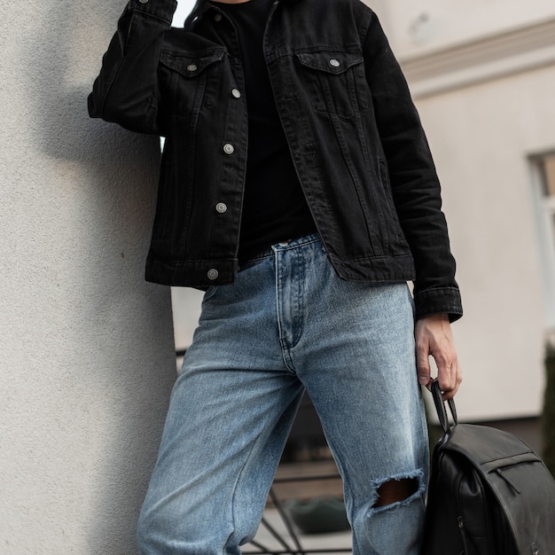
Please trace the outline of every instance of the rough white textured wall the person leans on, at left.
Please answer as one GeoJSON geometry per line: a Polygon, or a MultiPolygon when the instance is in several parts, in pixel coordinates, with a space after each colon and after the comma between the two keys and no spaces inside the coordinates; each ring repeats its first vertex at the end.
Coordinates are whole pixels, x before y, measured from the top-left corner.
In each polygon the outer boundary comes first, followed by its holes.
{"type": "Polygon", "coordinates": [[[122,0],[0,6],[0,552],[135,552],[175,377],[156,139],[89,120],[122,0]]]}

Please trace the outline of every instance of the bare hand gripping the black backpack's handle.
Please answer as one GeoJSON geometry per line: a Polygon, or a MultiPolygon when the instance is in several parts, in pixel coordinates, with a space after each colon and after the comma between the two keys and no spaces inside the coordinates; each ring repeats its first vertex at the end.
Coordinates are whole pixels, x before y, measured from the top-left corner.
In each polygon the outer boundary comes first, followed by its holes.
{"type": "Polygon", "coordinates": [[[446,314],[433,314],[421,318],[416,323],[414,335],[418,383],[428,389],[432,386],[434,379],[430,374],[429,357],[434,356],[443,399],[453,397],[463,377],[458,365],[449,317],[446,314]]]}

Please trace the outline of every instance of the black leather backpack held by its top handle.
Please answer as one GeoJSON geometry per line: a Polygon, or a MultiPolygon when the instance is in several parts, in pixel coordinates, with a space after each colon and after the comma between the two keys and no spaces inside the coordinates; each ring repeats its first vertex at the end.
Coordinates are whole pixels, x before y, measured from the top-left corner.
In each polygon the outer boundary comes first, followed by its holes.
{"type": "Polygon", "coordinates": [[[422,555],[554,555],[555,481],[512,434],[449,419],[432,387],[444,435],[432,455],[422,555]]]}

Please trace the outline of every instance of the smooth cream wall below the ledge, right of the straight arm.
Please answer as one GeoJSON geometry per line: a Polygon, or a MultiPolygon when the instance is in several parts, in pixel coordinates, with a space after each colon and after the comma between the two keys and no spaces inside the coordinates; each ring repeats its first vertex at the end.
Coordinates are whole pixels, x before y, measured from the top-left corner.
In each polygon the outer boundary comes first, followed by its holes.
{"type": "Polygon", "coordinates": [[[555,148],[555,66],[418,101],[465,317],[454,324],[464,418],[541,412],[546,315],[528,155],[555,148]]]}

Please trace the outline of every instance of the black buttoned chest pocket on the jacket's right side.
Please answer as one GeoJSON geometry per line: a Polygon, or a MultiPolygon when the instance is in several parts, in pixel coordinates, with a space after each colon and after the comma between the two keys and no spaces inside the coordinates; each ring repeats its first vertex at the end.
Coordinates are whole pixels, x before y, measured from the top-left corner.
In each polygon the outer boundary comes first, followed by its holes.
{"type": "Polygon", "coordinates": [[[298,52],[300,79],[318,112],[353,117],[364,106],[364,79],[360,52],[298,52]]]}

